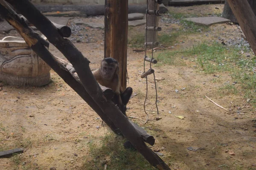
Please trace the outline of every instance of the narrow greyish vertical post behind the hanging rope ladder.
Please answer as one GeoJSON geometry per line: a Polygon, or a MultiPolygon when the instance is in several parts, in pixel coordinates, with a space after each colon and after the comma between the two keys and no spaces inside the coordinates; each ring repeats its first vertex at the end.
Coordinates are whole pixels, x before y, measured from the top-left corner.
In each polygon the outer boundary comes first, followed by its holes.
{"type": "MultiPolygon", "coordinates": [[[[149,10],[159,10],[159,4],[155,3],[155,0],[148,0],[148,9],[149,10]],[[155,7],[155,8],[154,8],[155,7]]],[[[157,17],[156,15],[152,14],[147,14],[148,17],[148,27],[151,26],[155,26],[154,24],[156,24],[156,27],[158,27],[158,20],[159,17],[157,17]]],[[[157,31],[154,31],[153,34],[153,30],[148,30],[147,31],[147,42],[153,42],[153,38],[154,41],[157,41],[157,31]]],[[[148,47],[151,47],[151,45],[149,45],[148,47]]]]}

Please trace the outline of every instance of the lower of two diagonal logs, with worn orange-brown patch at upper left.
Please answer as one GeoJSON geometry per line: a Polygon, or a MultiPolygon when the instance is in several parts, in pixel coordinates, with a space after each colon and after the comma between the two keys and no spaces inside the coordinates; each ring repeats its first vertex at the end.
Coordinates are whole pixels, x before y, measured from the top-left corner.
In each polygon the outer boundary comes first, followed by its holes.
{"type": "Polygon", "coordinates": [[[0,5],[0,14],[19,32],[32,50],[35,51],[36,54],[39,54],[38,56],[41,57],[94,111],[99,114],[101,119],[111,128],[111,130],[113,130],[113,132],[122,135],[120,130],[113,124],[113,122],[111,122],[108,116],[102,112],[87,91],[85,91],[83,85],[76,81],[67,68],[55,59],[47,48],[45,48],[45,46],[48,47],[49,42],[45,41],[35,31],[29,28],[14,11],[11,11],[11,9],[7,10],[8,6],[6,6],[4,1],[0,1],[0,3],[2,5],[0,5]]]}

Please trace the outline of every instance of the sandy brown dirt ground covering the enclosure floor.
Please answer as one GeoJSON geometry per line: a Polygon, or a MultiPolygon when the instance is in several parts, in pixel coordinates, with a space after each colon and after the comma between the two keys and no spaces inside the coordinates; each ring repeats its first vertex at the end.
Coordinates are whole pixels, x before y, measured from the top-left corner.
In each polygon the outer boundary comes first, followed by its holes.
{"type": "MultiPolygon", "coordinates": [[[[191,14],[207,15],[222,10],[223,5],[193,7],[170,7],[191,14]],[[205,7],[205,8],[204,8],[205,7]],[[218,7],[219,9],[216,9],[218,7]]],[[[103,17],[102,17],[103,19],[103,17]]],[[[98,21],[99,18],[90,18],[98,21]]],[[[70,23],[72,20],[70,20],[70,23]]],[[[169,32],[177,24],[161,23],[163,31],[169,32]]],[[[144,31],[145,26],[129,29],[129,37],[144,31]]],[[[192,34],[180,38],[185,41],[168,50],[189,48],[203,40],[218,40],[218,37],[241,37],[236,25],[217,24],[209,28],[209,36],[192,34]]],[[[75,42],[74,45],[90,61],[90,68],[99,66],[104,56],[101,29],[86,28],[84,34],[93,36],[97,42],[75,42]],[[94,34],[94,35],[93,35],[94,34]]],[[[162,34],[162,33],[161,33],[162,34]]],[[[0,38],[17,35],[15,31],[0,34],[0,38]]],[[[57,57],[63,55],[52,45],[50,51],[57,57]]],[[[160,51],[155,51],[155,55],[160,51]]],[[[218,94],[218,87],[232,81],[230,74],[222,73],[213,83],[213,74],[201,74],[193,67],[191,58],[184,59],[186,66],[159,65],[154,67],[157,78],[158,108],[162,119],[156,121],[154,86],[149,84],[147,111],[149,122],[144,125],[143,109],[145,79],[143,71],[144,52],[128,48],[129,84],[137,93],[128,103],[128,116],[154,135],[155,148],[163,148],[162,159],[174,170],[256,170],[256,133],[252,119],[255,109],[241,94],[218,94]],[[185,88],[185,90],[181,90],[185,88]],[[175,90],[179,90],[178,93],[175,90]],[[225,111],[210,102],[208,96],[225,111]],[[236,111],[240,111],[238,114],[236,111]],[[175,116],[184,116],[178,119],[175,116]],[[188,147],[199,150],[190,151],[188,147]]],[[[160,62],[160,61],[159,61],[160,62]]],[[[148,65],[147,65],[148,66],[148,65]]],[[[217,75],[218,76],[218,75],[217,75]]],[[[0,90],[0,150],[25,147],[21,159],[0,159],[1,170],[28,169],[56,170],[79,169],[89,152],[88,142],[99,141],[106,129],[99,116],[76,94],[54,71],[52,82],[44,87],[15,87],[1,83],[0,90]],[[99,126],[99,129],[96,127],[99,126]],[[75,153],[75,154],[74,154],[75,153]],[[52,168],[54,169],[54,168],[52,168]]],[[[153,78],[149,77],[153,83],[153,78]]],[[[102,168],[103,170],[103,168],[102,168]]]]}

